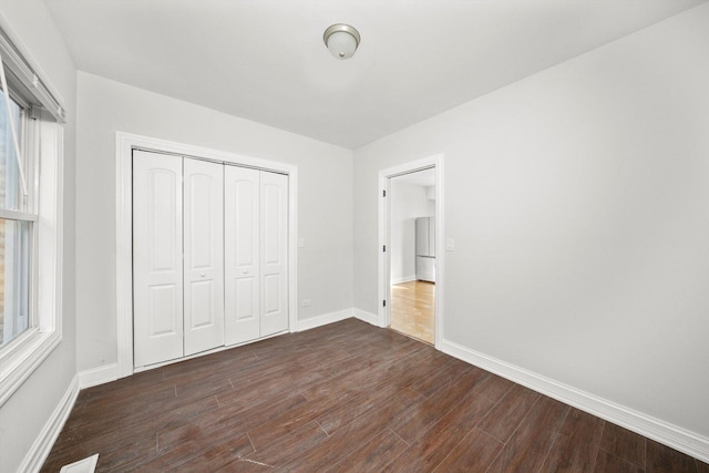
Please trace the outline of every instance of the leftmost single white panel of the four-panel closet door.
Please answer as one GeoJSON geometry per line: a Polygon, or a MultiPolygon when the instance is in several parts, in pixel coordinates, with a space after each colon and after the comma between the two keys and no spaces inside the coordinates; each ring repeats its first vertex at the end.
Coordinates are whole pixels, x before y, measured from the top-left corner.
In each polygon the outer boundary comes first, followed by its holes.
{"type": "Polygon", "coordinates": [[[134,363],[183,356],[182,158],[133,152],[134,363]]]}

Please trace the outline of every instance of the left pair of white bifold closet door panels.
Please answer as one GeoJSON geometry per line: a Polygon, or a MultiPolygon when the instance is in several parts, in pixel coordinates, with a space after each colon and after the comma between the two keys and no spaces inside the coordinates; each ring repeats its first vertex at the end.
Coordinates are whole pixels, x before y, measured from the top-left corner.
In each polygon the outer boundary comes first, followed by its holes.
{"type": "Polygon", "coordinates": [[[224,345],[224,165],[135,151],[135,366],[224,345]]]}

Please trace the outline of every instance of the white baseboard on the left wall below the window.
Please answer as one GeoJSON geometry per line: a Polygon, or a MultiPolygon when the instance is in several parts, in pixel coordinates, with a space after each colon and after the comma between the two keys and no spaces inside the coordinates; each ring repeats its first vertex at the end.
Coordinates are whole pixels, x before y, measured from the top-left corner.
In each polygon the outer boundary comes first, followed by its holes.
{"type": "Polygon", "coordinates": [[[52,415],[49,418],[42,431],[38,435],[37,440],[30,448],[27,455],[24,455],[24,460],[22,464],[20,464],[20,472],[39,472],[44,464],[44,461],[49,456],[49,452],[52,451],[52,446],[56,441],[62,428],[64,426],[64,422],[69,418],[71,413],[71,409],[74,407],[74,402],[76,402],[76,397],[79,395],[79,376],[74,376],[66,388],[66,392],[62,397],[61,401],[52,412],[52,415]]]}

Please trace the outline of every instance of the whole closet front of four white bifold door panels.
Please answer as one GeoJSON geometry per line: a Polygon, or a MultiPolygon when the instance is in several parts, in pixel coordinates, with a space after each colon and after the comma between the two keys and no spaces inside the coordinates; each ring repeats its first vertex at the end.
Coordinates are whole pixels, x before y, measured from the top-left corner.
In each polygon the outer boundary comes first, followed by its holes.
{"type": "Polygon", "coordinates": [[[288,329],[288,176],[133,152],[134,364],[288,329]]]}

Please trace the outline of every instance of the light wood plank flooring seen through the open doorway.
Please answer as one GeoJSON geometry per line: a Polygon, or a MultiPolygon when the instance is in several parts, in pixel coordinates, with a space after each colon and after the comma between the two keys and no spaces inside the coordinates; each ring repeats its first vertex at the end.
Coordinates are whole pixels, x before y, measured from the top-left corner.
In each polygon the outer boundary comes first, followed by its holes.
{"type": "Polygon", "coordinates": [[[390,327],[433,345],[435,285],[409,281],[391,286],[390,327]]]}

